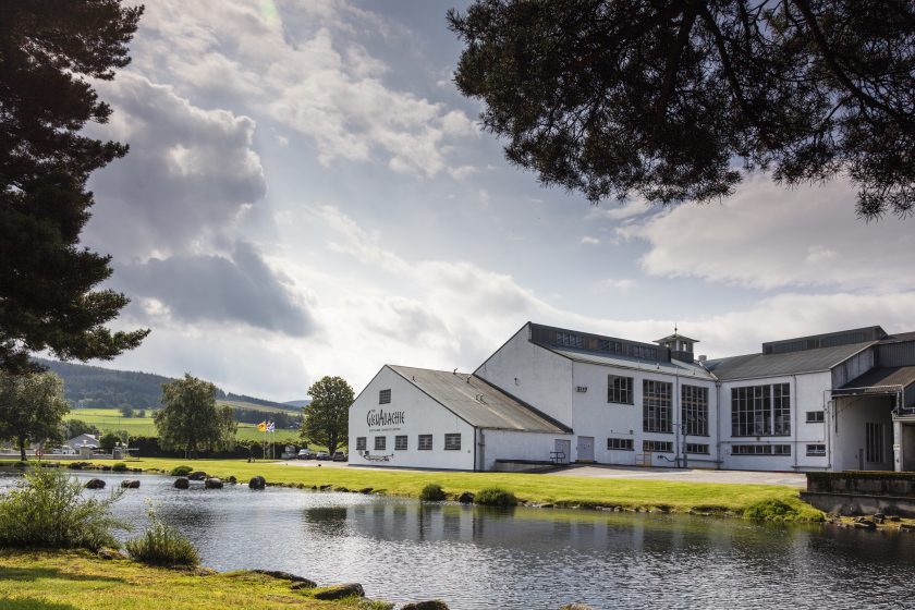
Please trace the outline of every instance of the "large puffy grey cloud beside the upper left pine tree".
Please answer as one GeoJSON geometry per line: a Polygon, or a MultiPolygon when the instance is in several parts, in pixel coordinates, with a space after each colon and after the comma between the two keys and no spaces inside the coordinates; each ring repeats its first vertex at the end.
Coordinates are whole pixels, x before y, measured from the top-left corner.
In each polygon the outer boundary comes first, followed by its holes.
{"type": "Polygon", "coordinates": [[[186,254],[231,231],[245,206],[264,197],[252,119],[197,108],[131,73],[99,89],[114,117],[94,135],[131,150],[93,175],[90,247],[121,259],[186,254]]]}

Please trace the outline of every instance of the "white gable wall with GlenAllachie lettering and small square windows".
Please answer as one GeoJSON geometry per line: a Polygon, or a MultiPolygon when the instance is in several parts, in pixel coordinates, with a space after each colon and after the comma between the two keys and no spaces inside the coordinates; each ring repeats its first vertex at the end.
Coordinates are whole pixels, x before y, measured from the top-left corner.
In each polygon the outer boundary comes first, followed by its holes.
{"type": "Polygon", "coordinates": [[[474,468],[474,428],[429,398],[413,383],[389,367],[383,367],[356,398],[350,407],[350,464],[411,468],[474,468]],[[391,390],[391,402],[378,404],[380,390],[391,390]],[[404,423],[393,426],[369,427],[370,411],[403,412],[404,423]],[[461,434],[461,450],[446,451],[444,435],[461,434]],[[419,451],[418,436],[432,435],[431,451],[419,451]],[[394,449],[394,437],[407,436],[406,451],[394,449]],[[375,437],[387,437],[387,448],[375,450],[375,437]],[[366,437],[369,455],[390,456],[388,461],[367,460],[356,451],[356,438],[366,437]]]}

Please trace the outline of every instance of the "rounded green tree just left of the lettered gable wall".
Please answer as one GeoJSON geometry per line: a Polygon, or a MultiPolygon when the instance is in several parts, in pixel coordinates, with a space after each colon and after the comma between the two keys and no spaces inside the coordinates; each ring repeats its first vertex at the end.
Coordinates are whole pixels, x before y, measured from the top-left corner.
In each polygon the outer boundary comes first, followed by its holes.
{"type": "Polygon", "coordinates": [[[305,442],[327,447],[332,455],[346,441],[353,388],[342,377],[322,377],[312,383],[308,395],[312,402],[302,407],[301,436],[305,442]]]}

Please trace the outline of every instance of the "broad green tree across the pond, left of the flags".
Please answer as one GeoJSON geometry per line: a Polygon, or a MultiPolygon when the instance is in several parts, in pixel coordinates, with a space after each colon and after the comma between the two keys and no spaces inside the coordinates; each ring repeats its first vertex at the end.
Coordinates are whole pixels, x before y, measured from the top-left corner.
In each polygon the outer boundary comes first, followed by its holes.
{"type": "Polygon", "coordinates": [[[221,450],[232,447],[237,424],[232,407],[218,407],[216,386],[185,374],[162,385],[162,408],[154,422],[163,449],[183,449],[185,457],[194,457],[202,449],[221,450]]]}

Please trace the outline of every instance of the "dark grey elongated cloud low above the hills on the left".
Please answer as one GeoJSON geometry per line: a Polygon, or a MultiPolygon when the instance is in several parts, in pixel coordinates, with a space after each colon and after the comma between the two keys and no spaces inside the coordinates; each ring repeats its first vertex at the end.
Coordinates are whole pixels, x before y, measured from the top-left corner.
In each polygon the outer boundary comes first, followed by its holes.
{"type": "MultiPolygon", "coordinates": [[[[117,288],[155,300],[176,321],[244,322],[303,337],[315,331],[308,308],[295,297],[247,243],[230,257],[176,255],[120,267],[117,288]]],[[[134,308],[134,315],[136,310],[134,308]]]]}

